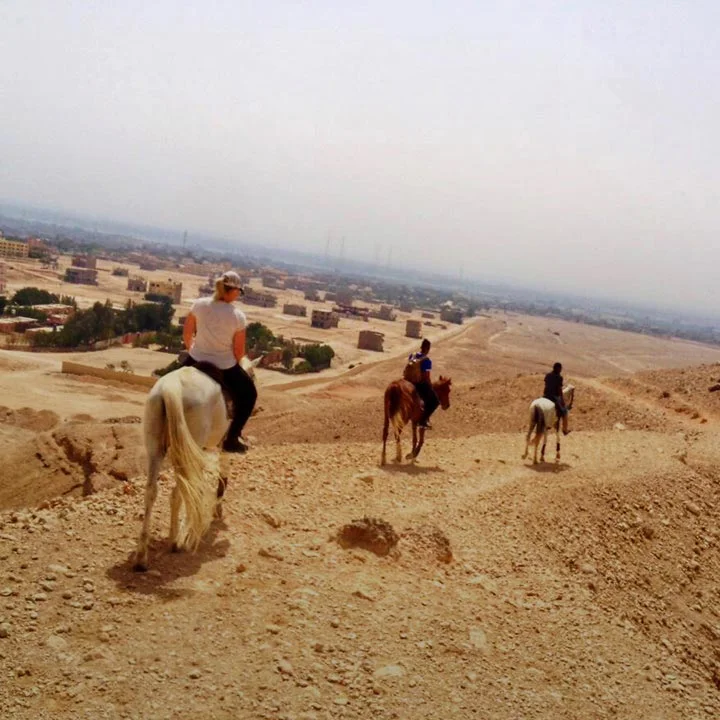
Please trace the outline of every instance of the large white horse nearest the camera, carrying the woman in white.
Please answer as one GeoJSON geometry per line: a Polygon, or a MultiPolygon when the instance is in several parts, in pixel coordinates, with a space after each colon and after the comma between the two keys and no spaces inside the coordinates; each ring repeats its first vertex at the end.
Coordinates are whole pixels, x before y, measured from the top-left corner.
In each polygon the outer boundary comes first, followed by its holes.
{"type": "MultiPolygon", "coordinates": [[[[255,366],[243,357],[240,365],[255,381],[255,366]]],[[[230,425],[220,385],[194,367],[182,367],[161,377],[145,404],[145,448],[148,478],[145,486],[145,517],[138,540],[134,569],[148,567],[148,539],[158,475],[167,456],[175,470],[170,497],[170,542],[173,552],[182,547],[197,549],[210,527],[213,511],[220,517],[225,480],[220,474],[217,448],[230,425]],[[217,490],[211,489],[217,484],[217,490]],[[180,536],[180,506],[185,506],[185,533],[180,536]]]]}

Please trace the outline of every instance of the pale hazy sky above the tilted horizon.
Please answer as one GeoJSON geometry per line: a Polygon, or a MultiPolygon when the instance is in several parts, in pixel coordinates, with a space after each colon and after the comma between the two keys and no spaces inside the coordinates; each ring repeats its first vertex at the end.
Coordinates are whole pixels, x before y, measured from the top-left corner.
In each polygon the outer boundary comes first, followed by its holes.
{"type": "Polygon", "coordinates": [[[0,198],[720,307],[720,3],[0,0],[0,198]]]}

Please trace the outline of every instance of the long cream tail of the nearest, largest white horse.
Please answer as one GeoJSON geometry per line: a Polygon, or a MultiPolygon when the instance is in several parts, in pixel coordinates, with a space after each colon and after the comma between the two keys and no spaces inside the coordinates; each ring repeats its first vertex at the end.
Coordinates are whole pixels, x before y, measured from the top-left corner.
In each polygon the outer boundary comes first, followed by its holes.
{"type": "Polygon", "coordinates": [[[205,492],[209,487],[205,478],[217,471],[216,459],[204,452],[190,434],[182,403],[180,373],[169,373],[162,379],[161,396],[167,420],[167,457],[175,470],[175,482],[185,505],[185,542],[195,550],[212,520],[214,499],[205,492]]]}

